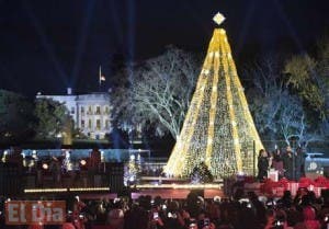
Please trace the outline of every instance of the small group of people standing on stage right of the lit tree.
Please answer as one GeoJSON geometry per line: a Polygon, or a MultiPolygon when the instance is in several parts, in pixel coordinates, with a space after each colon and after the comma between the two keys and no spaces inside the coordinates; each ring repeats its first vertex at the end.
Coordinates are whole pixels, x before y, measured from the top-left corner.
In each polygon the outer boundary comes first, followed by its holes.
{"type": "Polygon", "coordinates": [[[263,181],[268,178],[270,169],[277,171],[279,179],[286,178],[298,181],[305,176],[306,153],[302,147],[295,151],[290,146],[285,150],[276,148],[273,152],[261,149],[258,157],[258,179],[263,181]]]}

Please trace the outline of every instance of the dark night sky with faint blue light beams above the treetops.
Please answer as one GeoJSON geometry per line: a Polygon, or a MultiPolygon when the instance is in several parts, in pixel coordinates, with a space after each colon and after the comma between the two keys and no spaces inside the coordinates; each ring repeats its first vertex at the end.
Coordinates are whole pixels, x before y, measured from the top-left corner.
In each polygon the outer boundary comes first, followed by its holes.
{"type": "Polygon", "coordinates": [[[118,56],[205,53],[217,11],[238,62],[307,51],[329,31],[328,0],[0,0],[0,89],[97,91],[99,66],[111,78],[118,56]]]}

